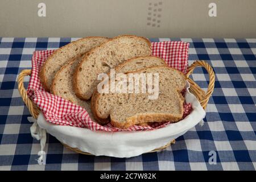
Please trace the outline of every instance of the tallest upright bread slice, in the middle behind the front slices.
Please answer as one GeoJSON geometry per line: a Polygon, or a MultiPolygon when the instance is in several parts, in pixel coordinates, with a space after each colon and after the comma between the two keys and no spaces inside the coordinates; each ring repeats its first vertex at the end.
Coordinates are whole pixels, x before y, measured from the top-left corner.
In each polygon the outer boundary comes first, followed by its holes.
{"type": "Polygon", "coordinates": [[[101,46],[86,53],[77,66],[73,76],[73,85],[78,97],[88,100],[98,85],[99,73],[107,73],[123,61],[137,56],[151,55],[151,43],[148,39],[134,36],[117,36],[101,46]]]}

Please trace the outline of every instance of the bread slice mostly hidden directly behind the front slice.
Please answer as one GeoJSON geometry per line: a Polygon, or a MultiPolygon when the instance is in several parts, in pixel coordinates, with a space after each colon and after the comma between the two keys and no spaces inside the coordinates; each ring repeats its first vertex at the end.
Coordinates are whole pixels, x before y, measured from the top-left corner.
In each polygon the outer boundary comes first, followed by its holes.
{"type": "MultiPolygon", "coordinates": [[[[167,64],[163,59],[156,56],[139,56],[129,59],[122,64],[115,67],[115,73],[127,73],[137,71],[138,69],[153,67],[153,66],[166,66],[167,64]]],[[[109,75],[110,73],[108,73],[109,75]]],[[[93,107],[93,106],[92,106],[93,107]]],[[[93,113],[94,110],[92,110],[93,113]]],[[[93,113],[98,123],[105,124],[109,122],[109,118],[98,118],[96,113],[93,113]]],[[[147,123],[143,123],[142,126],[146,126],[147,123]]]]}

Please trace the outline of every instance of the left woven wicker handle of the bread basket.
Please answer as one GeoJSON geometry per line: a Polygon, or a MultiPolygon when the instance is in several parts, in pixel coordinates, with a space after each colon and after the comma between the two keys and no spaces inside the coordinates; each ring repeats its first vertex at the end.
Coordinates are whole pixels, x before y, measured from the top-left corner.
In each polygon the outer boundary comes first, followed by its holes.
{"type": "Polygon", "coordinates": [[[32,117],[37,119],[38,115],[39,115],[39,109],[34,104],[34,102],[32,102],[30,100],[30,98],[28,98],[27,91],[24,88],[24,84],[23,84],[24,77],[25,76],[30,76],[30,75],[31,75],[31,69],[23,69],[23,71],[21,71],[19,73],[18,80],[17,80],[18,81],[18,90],[19,90],[20,96],[22,97],[23,102],[28,107],[28,110],[30,111],[30,114],[32,115],[32,117]]]}

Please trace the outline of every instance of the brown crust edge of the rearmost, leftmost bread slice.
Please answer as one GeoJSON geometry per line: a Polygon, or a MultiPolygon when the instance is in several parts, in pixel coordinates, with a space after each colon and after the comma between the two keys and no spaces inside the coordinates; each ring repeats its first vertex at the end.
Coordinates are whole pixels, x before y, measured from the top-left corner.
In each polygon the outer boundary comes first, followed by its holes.
{"type": "MultiPolygon", "coordinates": [[[[44,62],[44,64],[42,65],[40,71],[39,71],[39,79],[41,81],[41,84],[43,86],[43,88],[47,91],[47,92],[50,92],[51,91],[51,85],[47,85],[47,79],[46,79],[46,65],[48,63],[48,61],[50,59],[52,59],[53,56],[55,56],[58,52],[60,52],[64,47],[70,47],[72,46],[72,44],[77,44],[77,42],[81,42],[82,40],[85,40],[85,39],[92,39],[92,38],[105,38],[105,37],[101,37],[101,36],[88,36],[86,38],[81,38],[81,39],[78,39],[76,41],[73,41],[65,46],[62,46],[58,49],[56,49],[51,56],[48,57],[48,59],[44,62]]],[[[109,38],[105,38],[105,39],[109,39],[109,38]]],[[[80,46],[79,44],[77,44],[77,46],[80,46]]]]}

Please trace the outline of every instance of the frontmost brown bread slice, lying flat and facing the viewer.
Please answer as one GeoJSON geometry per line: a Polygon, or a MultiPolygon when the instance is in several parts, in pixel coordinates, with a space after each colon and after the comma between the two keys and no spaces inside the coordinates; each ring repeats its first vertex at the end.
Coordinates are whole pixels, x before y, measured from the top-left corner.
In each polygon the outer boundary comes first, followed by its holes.
{"type": "MultiPolygon", "coordinates": [[[[126,129],[145,122],[179,121],[183,116],[185,76],[174,68],[158,66],[126,73],[158,73],[159,96],[149,100],[148,93],[98,93],[94,91],[92,110],[97,118],[110,116],[113,126],[126,129]]],[[[140,84],[141,85],[141,84],[140,84]]]]}

